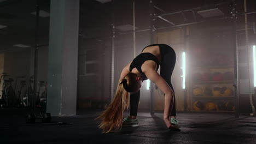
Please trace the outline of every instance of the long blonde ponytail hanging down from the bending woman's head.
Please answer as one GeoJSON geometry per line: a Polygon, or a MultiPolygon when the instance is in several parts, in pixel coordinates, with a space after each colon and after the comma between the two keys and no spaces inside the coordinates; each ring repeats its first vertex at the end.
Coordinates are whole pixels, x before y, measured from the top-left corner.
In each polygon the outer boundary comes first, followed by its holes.
{"type": "Polygon", "coordinates": [[[123,84],[126,83],[126,79],[123,79],[117,88],[115,97],[108,106],[108,108],[103,111],[103,113],[97,117],[102,119],[102,122],[98,127],[102,129],[102,133],[109,133],[114,128],[118,127],[120,130],[123,123],[123,112],[125,108],[129,107],[129,93],[125,91],[123,84]]]}

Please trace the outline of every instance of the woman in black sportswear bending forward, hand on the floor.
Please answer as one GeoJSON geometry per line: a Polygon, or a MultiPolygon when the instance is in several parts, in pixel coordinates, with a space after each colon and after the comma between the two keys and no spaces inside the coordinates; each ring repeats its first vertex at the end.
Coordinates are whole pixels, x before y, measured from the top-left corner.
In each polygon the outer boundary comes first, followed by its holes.
{"type": "Polygon", "coordinates": [[[121,129],[123,112],[129,107],[130,93],[131,97],[136,97],[133,94],[139,93],[142,82],[147,79],[154,82],[165,94],[164,122],[166,127],[179,130],[170,122],[170,116],[176,116],[174,90],[171,84],[175,63],[176,54],[172,47],[166,44],[154,44],[145,47],[141,54],[127,64],[121,72],[114,99],[102,115],[97,117],[102,119],[98,127],[103,130],[103,133],[109,133],[116,127],[121,129]],[[161,65],[160,75],[157,72],[159,65],[161,65]]]}

